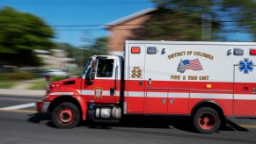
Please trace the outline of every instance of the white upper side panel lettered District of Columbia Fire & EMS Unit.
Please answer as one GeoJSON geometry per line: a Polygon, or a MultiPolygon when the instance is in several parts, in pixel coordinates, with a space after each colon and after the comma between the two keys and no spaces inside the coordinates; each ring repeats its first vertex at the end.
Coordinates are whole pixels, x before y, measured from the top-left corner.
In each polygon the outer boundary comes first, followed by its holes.
{"type": "MultiPolygon", "coordinates": [[[[245,61],[245,59],[256,63],[256,55],[250,55],[250,49],[256,49],[256,43],[127,41],[126,47],[129,48],[126,48],[125,72],[128,73],[125,79],[130,80],[138,79],[131,78],[130,67],[142,67],[144,77],[141,78],[145,80],[157,77],[159,81],[232,83],[234,82],[234,65],[238,65],[239,61],[245,61]],[[130,47],[141,47],[141,54],[130,54],[130,47]],[[147,47],[156,47],[157,54],[147,54],[147,47]],[[165,54],[161,54],[164,48],[165,54]],[[244,54],[234,55],[235,48],[243,49],[244,54]],[[229,50],[232,51],[230,55],[227,54],[229,50]],[[194,59],[200,61],[201,70],[186,69],[184,73],[177,71],[180,61],[194,59]]],[[[251,71],[248,74],[242,71],[237,75],[237,83],[255,82],[251,71]]]]}

